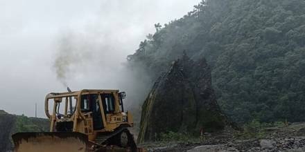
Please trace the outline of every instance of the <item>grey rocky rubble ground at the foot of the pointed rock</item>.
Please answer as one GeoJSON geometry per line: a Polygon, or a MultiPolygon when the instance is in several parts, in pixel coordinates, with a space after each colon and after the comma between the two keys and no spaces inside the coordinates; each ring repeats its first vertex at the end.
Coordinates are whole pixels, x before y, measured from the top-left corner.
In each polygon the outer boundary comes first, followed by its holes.
{"type": "MultiPolygon", "coordinates": [[[[146,143],[150,152],[303,152],[305,151],[305,122],[287,125],[259,126],[263,137],[241,137],[233,133],[211,133],[201,142],[146,143]],[[224,136],[225,135],[225,136],[224,136]]],[[[242,133],[241,131],[240,133],[242,133]]]]}

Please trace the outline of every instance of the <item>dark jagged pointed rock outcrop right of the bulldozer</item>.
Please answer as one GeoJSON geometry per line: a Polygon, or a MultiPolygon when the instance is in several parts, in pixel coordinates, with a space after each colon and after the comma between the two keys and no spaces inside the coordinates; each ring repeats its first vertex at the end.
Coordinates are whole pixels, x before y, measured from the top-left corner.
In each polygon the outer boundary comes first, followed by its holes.
{"type": "Polygon", "coordinates": [[[193,61],[184,54],[159,77],[146,98],[138,142],[156,140],[159,133],[168,131],[200,135],[202,129],[219,131],[226,124],[211,88],[207,61],[193,61]]]}

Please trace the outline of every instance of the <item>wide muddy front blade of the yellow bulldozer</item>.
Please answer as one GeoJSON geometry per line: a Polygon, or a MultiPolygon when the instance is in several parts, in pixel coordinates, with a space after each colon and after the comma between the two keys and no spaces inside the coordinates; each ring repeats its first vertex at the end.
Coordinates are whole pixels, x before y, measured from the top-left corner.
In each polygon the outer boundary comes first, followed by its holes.
{"type": "Polygon", "coordinates": [[[88,137],[82,133],[16,133],[15,152],[87,152],[88,137]]]}

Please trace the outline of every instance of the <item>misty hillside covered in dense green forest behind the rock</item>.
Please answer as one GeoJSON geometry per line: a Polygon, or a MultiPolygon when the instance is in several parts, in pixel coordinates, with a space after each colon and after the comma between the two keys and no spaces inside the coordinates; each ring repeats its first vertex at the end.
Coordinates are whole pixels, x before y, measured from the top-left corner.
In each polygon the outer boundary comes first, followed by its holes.
{"type": "Polygon", "coordinates": [[[141,41],[130,66],[154,81],[183,51],[205,57],[236,122],[305,121],[305,1],[206,0],[141,41]]]}

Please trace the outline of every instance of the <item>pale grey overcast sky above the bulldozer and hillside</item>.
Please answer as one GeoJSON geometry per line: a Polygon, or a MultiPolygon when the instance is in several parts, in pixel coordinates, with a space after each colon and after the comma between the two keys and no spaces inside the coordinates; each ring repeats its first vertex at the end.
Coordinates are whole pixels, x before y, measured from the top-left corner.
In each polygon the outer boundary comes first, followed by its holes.
{"type": "Polygon", "coordinates": [[[44,117],[45,95],[66,91],[54,67],[62,39],[77,52],[67,74],[73,90],[120,87],[114,67],[155,32],[154,23],[179,19],[199,2],[0,0],[0,109],[34,116],[37,103],[44,117]]]}

